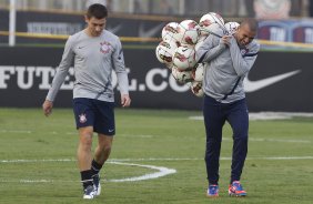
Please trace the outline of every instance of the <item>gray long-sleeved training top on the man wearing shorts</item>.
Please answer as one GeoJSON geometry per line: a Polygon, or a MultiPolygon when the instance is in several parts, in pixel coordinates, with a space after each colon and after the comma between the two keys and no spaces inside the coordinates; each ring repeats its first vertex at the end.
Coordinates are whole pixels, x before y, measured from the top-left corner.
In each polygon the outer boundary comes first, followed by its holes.
{"type": "Polygon", "coordinates": [[[120,39],[108,30],[100,37],[89,37],[83,30],[71,35],[64,47],[47,100],[54,101],[69,69],[74,62],[73,98],[113,102],[112,70],[115,70],[120,92],[129,93],[129,79],[120,39]]]}

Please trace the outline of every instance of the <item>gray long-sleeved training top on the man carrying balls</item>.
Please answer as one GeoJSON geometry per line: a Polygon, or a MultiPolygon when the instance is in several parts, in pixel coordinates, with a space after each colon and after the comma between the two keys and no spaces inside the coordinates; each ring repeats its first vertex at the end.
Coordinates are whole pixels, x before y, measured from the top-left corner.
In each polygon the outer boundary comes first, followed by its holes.
{"type": "MultiPolygon", "coordinates": [[[[216,29],[223,35],[222,29],[216,29]]],[[[203,91],[221,103],[232,103],[245,98],[243,79],[256,60],[260,44],[253,40],[245,48],[240,48],[235,38],[230,47],[221,38],[210,34],[196,50],[196,61],[205,62],[203,91]]]]}

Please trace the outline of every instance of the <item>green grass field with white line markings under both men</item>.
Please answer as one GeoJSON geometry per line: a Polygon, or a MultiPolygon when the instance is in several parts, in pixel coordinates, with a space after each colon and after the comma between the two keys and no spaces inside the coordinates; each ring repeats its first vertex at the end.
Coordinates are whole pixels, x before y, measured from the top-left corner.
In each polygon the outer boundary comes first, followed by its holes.
{"type": "Polygon", "coordinates": [[[201,112],[118,109],[113,151],[101,172],[102,194],[83,201],[72,110],[55,109],[44,118],[40,109],[0,109],[0,203],[312,203],[312,118],[251,121],[244,198],[228,196],[232,133],[225,125],[220,197],[210,200],[204,126],[189,119],[194,115],[201,112]],[[164,170],[176,172],[125,181],[164,170]]]}

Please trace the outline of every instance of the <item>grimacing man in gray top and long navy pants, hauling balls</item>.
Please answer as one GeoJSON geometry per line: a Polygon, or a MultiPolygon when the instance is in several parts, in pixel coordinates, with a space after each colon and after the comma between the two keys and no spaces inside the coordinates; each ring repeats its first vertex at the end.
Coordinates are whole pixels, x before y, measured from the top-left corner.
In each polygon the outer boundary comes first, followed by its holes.
{"type": "Polygon", "coordinates": [[[219,165],[222,129],[228,121],[233,130],[233,153],[229,194],[245,196],[240,177],[248,153],[249,112],[243,79],[256,60],[260,44],[254,40],[258,21],[245,19],[229,35],[218,28],[196,50],[198,62],[205,62],[203,115],[206,131],[206,195],[219,196],[219,165]]]}

